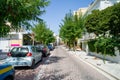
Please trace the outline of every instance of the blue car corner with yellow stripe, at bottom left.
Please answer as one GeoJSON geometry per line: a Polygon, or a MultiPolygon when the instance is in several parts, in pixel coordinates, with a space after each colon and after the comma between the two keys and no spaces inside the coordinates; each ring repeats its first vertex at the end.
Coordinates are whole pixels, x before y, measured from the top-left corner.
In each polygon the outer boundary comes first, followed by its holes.
{"type": "Polygon", "coordinates": [[[12,65],[0,64],[0,80],[14,80],[15,70],[12,65]]]}

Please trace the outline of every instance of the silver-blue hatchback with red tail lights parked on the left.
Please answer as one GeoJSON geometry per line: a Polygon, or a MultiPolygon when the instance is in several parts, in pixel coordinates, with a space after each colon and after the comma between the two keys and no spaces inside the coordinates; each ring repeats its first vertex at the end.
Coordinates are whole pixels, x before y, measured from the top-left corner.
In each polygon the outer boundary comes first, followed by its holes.
{"type": "Polygon", "coordinates": [[[28,66],[34,68],[35,64],[42,60],[42,53],[35,46],[14,47],[7,54],[7,64],[13,66],[28,66]]]}

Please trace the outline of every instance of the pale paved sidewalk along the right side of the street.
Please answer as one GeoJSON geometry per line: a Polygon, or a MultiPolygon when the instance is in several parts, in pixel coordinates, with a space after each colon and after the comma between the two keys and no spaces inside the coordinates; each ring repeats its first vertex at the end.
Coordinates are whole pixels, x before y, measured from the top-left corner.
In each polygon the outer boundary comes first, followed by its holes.
{"type": "Polygon", "coordinates": [[[98,69],[104,71],[105,73],[109,74],[110,76],[114,77],[116,80],[120,80],[120,64],[112,63],[110,61],[103,62],[102,59],[97,58],[95,56],[88,55],[84,51],[69,51],[66,49],[70,54],[78,56],[80,59],[92,64],[93,66],[97,67],[98,69]]]}

